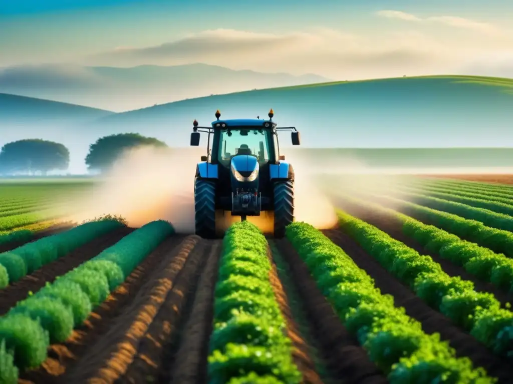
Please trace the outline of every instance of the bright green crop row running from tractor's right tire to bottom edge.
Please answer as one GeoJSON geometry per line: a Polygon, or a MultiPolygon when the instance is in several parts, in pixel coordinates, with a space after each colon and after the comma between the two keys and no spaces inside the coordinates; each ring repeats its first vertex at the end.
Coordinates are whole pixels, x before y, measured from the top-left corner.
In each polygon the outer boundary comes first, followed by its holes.
{"type": "Polygon", "coordinates": [[[474,369],[469,358],[457,358],[439,334],[424,333],[418,321],[395,307],[393,297],[381,294],[370,276],[322,232],[293,223],[286,236],[342,323],[390,384],[496,382],[484,369],[474,369]]]}

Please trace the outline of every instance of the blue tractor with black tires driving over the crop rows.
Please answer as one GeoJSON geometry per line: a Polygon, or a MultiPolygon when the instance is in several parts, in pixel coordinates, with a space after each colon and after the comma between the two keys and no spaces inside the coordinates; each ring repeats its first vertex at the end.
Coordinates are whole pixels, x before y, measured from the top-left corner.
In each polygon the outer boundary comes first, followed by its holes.
{"type": "Polygon", "coordinates": [[[280,127],[269,120],[217,120],[211,127],[194,120],[191,145],[200,145],[200,132],[208,134],[207,156],[201,157],[194,178],[196,234],[216,237],[216,212],[232,216],[260,216],[274,212],[274,237],[283,238],[285,227],[294,221],[294,169],[280,155],[278,131],[292,131],[292,144],[300,145],[295,127],[280,127]],[[210,150],[210,135],[213,134],[210,150]]]}

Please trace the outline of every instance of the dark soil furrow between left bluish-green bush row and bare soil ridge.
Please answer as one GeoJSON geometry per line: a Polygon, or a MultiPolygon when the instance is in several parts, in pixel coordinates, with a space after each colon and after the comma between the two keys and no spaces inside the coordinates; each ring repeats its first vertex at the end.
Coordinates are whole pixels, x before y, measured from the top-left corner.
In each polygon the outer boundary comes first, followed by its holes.
{"type": "MultiPolygon", "coordinates": [[[[66,342],[50,346],[49,356],[41,367],[21,374],[20,378],[24,380],[20,384],[79,384],[85,382],[87,375],[93,375],[100,369],[102,363],[108,359],[105,354],[114,353],[113,349],[118,347],[116,341],[123,340],[134,319],[140,314],[139,309],[144,309],[143,300],[135,299],[148,295],[155,283],[151,278],[155,277],[155,273],[162,272],[160,266],[166,255],[176,255],[187,245],[192,247],[189,239],[184,240],[185,244],[180,246],[182,240],[183,236],[164,240],[91,313],[86,322],[73,331],[66,342]]],[[[144,321],[142,325],[144,326],[144,321]]]]}

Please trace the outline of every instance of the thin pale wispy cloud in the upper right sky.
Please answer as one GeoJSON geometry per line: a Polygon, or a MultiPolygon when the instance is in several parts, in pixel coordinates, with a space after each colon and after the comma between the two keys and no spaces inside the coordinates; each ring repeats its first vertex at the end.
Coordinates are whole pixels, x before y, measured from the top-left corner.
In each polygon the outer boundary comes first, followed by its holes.
{"type": "Polygon", "coordinates": [[[393,10],[382,10],[378,11],[376,14],[381,17],[396,18],[410,22],[440,23],[451,27],[475,30],[490,35],[499,35],[502,33],[500,28],[492,24],[477,22],[475,20],[458,16],[431,16],[421,18],[411,13],[393,10]]]}

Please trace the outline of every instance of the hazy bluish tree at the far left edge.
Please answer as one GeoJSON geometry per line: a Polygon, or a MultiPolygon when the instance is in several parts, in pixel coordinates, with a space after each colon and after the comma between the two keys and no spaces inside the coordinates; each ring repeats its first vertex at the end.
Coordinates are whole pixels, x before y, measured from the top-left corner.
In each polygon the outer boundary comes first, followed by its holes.
{"type": "Polygon", "coordinates": [[[66,170],[69,150],[63,144],[41,139],[17,140],[0,150],[0,173],[47,174],[50,170],[66,170]]]}

